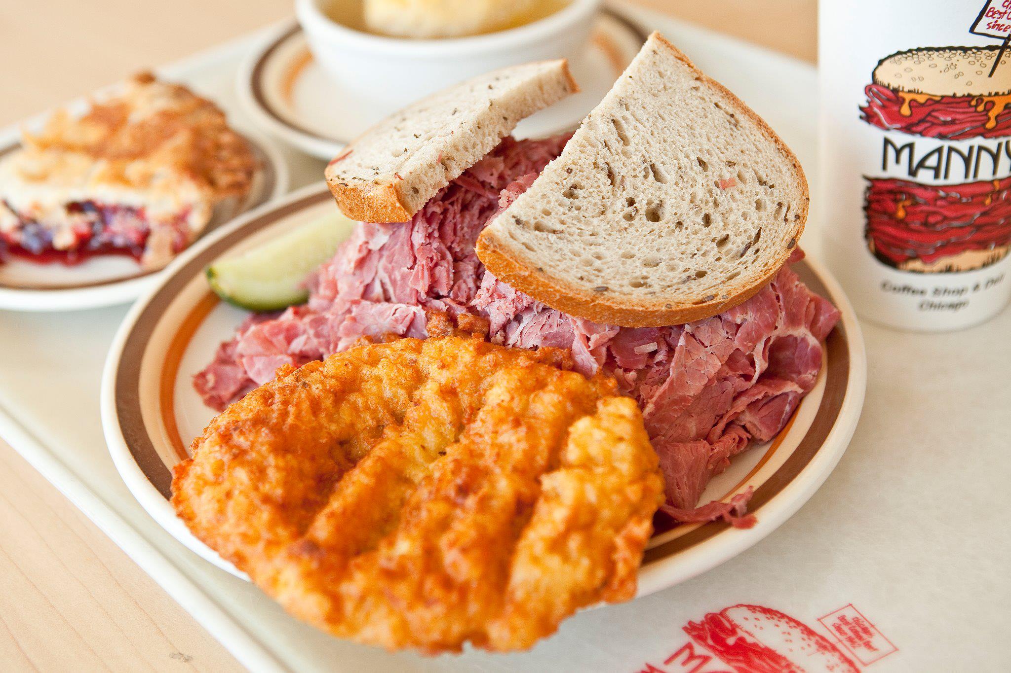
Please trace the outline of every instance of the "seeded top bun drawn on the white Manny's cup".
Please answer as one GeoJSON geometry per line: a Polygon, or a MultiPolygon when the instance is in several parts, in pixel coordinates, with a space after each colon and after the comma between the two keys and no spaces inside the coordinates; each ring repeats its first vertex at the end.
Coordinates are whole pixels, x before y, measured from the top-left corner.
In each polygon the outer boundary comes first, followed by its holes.
{"type": "Polygon", "coordinates": [[[1000,46],[945,46],[897,51],[878,62],[875,84],[925,96],[1011,94],[1011,51],[989,77],[1000,46]]]}

